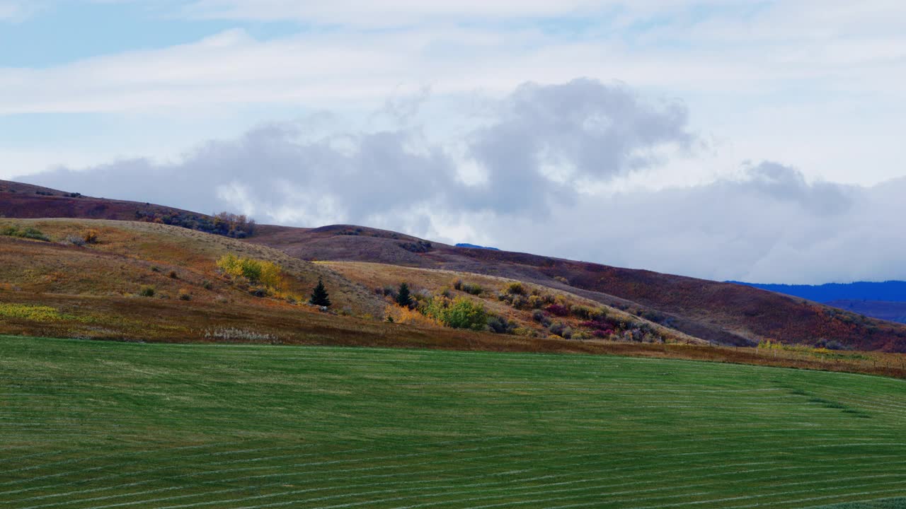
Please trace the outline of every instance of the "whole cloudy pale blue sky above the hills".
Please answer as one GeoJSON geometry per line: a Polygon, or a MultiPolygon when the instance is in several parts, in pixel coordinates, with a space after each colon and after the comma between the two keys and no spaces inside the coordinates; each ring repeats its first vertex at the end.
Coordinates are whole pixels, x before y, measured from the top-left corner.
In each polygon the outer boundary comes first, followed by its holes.
{"type": "Polygon", "coordinates": [[[0,0],[0,178],[757,283],[906,279],[906,4],[0,0]]]}

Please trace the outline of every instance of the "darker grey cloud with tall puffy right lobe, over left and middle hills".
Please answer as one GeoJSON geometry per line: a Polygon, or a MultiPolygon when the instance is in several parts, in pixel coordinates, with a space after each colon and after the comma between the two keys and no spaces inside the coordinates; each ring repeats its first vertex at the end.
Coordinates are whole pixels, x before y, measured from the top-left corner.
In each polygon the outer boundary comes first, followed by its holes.
{"type": "MultiPolygon", "coordinates": [[[[400,120],[400,104],[422,100],[395,101],[388,114],[400,120]]],[[[648,101],[619,83],[525,83],[486,105],[477,126],[444,143],[421,136],[418,126],[312,137],[304,124],[284,123],[210,141],[174,163],[139,158],[29,179],[204,212],[238,207],[259,220],[305,225],[400,226],[393,218],[435,212],[541,218],[573,201],[583,181],[651,168],[659,150],[689,149],[695,139],[681,103],[648,101]],[[464,163],[483,178],[463,178],[464,163]]],[[[413,109],[402,110],[405,124],[413,109]]]]}

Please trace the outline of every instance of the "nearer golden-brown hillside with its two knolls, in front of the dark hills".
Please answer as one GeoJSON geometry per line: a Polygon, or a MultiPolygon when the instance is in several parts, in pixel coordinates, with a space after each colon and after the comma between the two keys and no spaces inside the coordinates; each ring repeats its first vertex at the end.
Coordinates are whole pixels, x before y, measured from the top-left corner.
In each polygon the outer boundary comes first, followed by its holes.
{"type": "MultiPolygon", "coordinates": [[[[498,301],[513,280],[474,276],[486,290],[466,293],[452,281],[470,274],[421,270],[400,274],[386,264],[314,264],[263,245],[152,223],[99,219],[5,219],[0,230],[0,333],[134,341],[253,341],[275,343],[435,346],[527,351],[594,351],[582,341],[550,337],[534,310],[498,301]],[[82,237],[92,232],[95,240],[82,237]],[[279,288],[264,289],[223,274],[225,255],[273,262],[283,272],[279,288]],[[330,289],[333,312],[305,304],[315,283],[330,289]],[[392,303],[384,288],[410,281],[419,299],[447,293],[480,303],[500,317],[508,333],[453,331],[392,303]],[[146,294],[146,290],[150,292],[146,294]],[[381,290],[376,292],[375,289],[381,290]],[[405,312],[405,313],[404,313],[405,312]],[[402,314],[401,314],[402,313],[402,314]],[[396,323],[384,322],[385,317],[396,323]],[[519,332],[516,334],[516,332],[519,332]]],[[[593,302],[535,288],[565,306],[593,302]]],[[[627,330],[640,327],[660,341],[697,344],[697,338],[598,306],[627,330]]],[[[579,318],[558,319],[576,330],[579,318]]],[[[587,318],[585,319],[587,320],[587,318]]],[[[565,334],[564,334],[565,335],[565,334]]],[[[588,339],[591,339],[589,337],[588,339]]],[[[600,346],[600,345],[599,345],[600,346]]]]}

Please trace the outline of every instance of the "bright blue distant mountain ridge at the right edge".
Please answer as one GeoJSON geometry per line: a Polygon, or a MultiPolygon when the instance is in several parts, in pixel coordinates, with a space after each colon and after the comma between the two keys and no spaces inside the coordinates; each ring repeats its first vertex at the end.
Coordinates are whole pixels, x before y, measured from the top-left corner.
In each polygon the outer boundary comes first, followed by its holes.
{"type": "Polygon", "coordinates": [[[745,284],[769,292],[785,293],[801,297],[816,303],[834,301],[885,301],[906,303],[906,281],[885,281],[873,283],[860,281],[856,283],[826,284],[762,284],[730,281],[728,283],[745,284]]]}

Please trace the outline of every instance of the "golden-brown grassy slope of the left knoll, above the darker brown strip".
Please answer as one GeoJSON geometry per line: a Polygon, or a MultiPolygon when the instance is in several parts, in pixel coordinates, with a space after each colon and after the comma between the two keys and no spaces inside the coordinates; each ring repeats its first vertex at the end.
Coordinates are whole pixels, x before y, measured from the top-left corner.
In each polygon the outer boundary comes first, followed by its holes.
{"type": "Polygon", "coordinates": [[[330,268],[305,262],[283,252],[224,236],[153,223],[87,219],[4,219],[0,224],[34,226],[53,242],[0,239],[0,282],[26,293],[65,293],[124,296],[153,285],[158,296],[177,298],[180,290],[193,301],[218,298],[262,304],[230,288],[216,272],[217,258],[234,253],[279,264],[286,275],[284,293],[307,301],[319,278],[331,292],[334,308],[352,314],[378,316],[383,303],[361,285],[330,268]],[[79,247],[63,245],[87,229],[98,242],[79,247]],[[177,277],[169,277],[175,272],[177,277]],[[210,283],[210,289],[205,288],[210,283]]]}

